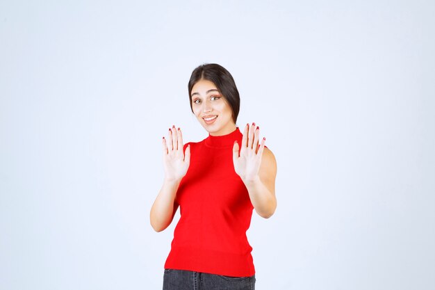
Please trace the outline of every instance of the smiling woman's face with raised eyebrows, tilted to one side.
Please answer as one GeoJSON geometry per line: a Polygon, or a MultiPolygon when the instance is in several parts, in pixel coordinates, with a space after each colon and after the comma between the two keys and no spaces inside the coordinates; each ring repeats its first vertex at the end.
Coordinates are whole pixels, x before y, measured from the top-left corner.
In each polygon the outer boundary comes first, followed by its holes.
{"type": "Polygon", "coordinates": [[[222,136],[236,130],[233,112],[215,84],[201,79],[192,87],[193,113],[211,136],[222,136]]]}

